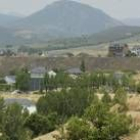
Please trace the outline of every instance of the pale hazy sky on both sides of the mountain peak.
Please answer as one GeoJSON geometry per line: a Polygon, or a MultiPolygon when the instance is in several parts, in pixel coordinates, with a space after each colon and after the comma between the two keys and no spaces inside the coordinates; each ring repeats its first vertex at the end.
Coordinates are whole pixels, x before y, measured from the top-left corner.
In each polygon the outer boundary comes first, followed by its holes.
{"type": "MultiPolygon", "coordinates": [[[[0,0],[0,12],[29,15],[56,0],[0,0]]],[[[140,0],[75,0],[100,8],[117,19],[140,17],[140,0]]]]}

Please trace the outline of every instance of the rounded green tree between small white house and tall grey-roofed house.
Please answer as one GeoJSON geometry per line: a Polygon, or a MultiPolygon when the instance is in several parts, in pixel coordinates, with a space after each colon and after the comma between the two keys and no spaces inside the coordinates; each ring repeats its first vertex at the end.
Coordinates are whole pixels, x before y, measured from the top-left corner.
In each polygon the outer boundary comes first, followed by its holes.
{"type": "Polygon", "coordinates": [[[30,74],[27,69],[21,69],[16,74],[16,88],[22,91],[29,90],[30,74]]]}

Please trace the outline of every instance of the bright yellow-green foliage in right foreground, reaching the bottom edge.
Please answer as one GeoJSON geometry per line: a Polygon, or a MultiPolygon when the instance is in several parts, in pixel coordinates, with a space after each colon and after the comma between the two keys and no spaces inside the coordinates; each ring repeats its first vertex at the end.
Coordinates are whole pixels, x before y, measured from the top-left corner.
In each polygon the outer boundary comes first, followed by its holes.
{"type": "Polygon", "coordinates": [[[115,114],[102,102],[87,108],[84,118],[72,118],[68,123],[68,140],[120,140],[131,131],[131,118],[115,114]]]}

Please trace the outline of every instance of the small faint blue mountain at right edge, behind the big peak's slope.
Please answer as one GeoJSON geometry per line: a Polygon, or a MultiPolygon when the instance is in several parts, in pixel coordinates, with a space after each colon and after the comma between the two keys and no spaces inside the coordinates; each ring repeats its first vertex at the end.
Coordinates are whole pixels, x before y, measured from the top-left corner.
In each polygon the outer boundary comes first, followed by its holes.
{"type": "Polygon", "coordinates": [[[128,26],[140,26],[140,18],[128,18],[124,19],[122,22],[128,26]]]}

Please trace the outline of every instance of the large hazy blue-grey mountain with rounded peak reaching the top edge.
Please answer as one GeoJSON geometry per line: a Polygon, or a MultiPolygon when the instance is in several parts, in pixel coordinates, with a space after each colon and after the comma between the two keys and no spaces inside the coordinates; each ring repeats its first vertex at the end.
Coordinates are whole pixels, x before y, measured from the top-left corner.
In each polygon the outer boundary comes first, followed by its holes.
{"type": "Polygon", "coordinates": [[[75,37],[118,25],[121,25],[119,21],[99,9],[72,0],[60,0],[13,26],[47,37],[75,37]]]}

